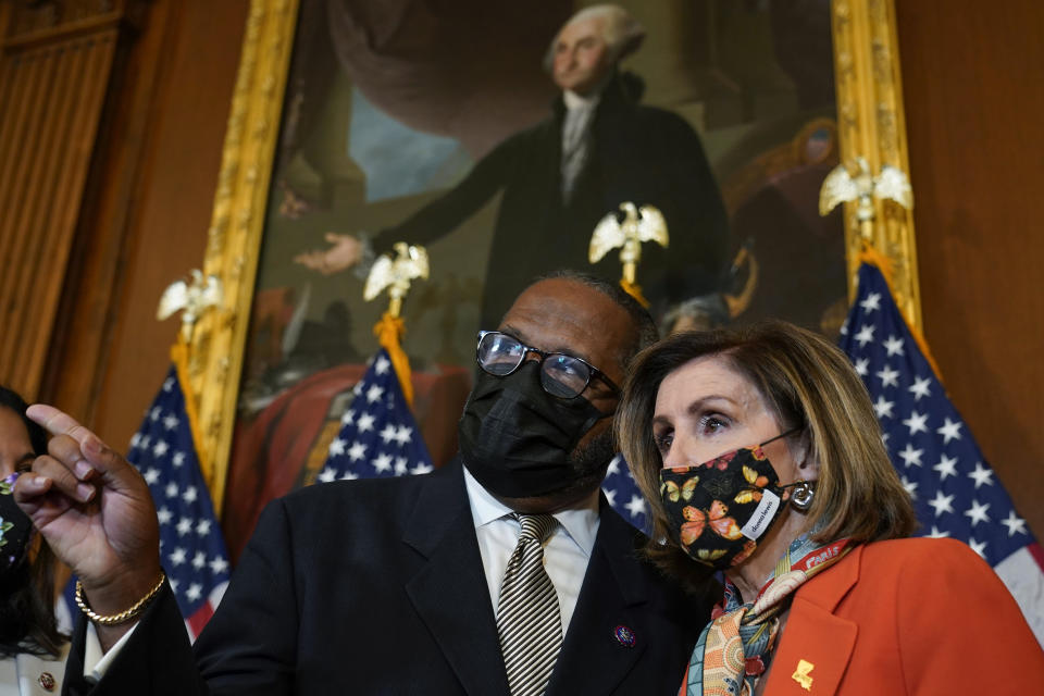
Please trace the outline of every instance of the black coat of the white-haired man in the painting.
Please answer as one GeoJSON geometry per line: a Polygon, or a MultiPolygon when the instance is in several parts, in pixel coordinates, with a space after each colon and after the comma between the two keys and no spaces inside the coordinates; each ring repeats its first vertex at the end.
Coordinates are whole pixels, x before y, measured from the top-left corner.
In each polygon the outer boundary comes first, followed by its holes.
{"type": "Polygon", "coordinates": [[[670,248],[643,245],[638,283],[656,312],[719,288],[729,223],[699,136],[681,116],[638,103],[641,79],[619,75],[602,90],[588,161],[568,203],[561,200],[561,99],[551,116],[498,145],[464,179],[400,224],[382,231],[374,250],[396,241],[431,244],[502,191],[489,248],[480,328],[494,328],[537,275],[586,270],[620,278],[619,251],[594,266],[595,225],[620,203],[660,209],[670,248]]]}

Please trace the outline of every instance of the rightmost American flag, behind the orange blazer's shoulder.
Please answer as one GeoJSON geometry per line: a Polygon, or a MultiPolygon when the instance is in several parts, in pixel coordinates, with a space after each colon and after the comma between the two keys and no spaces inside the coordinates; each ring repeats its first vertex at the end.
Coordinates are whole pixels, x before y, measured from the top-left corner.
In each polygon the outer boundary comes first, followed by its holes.
{"type": "Polygon", "coordinates": [[[921,523],[989,562],[1044,644],[1044,554],[946,396],[881,271],[863,263],[841,348],[862,377],[921,523]]]}

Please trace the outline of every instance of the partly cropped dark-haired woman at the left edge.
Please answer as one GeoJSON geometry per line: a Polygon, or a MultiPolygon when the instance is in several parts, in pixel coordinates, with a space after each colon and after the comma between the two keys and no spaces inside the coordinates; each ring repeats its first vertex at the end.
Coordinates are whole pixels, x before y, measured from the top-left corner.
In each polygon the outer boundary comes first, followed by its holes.
{"type": "Polygon", "coordinates": [[[0,386],[0,696],[61,693],[69,651],[54,622],[54,557],[11,495],[17,475],[47,453],[44,428],[25,409],[0,386]]]}

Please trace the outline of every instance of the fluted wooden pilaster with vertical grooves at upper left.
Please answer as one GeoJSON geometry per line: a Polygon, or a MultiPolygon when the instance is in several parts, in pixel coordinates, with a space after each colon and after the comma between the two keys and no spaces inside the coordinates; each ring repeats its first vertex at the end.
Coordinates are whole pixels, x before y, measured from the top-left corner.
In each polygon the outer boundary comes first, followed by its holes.
{"type": "Polygon", "coordinates": [[[0,111],[0,381],[35,395],[74,241],[117,28],[41,48],[3,42],[10,100],[0,111]]]}

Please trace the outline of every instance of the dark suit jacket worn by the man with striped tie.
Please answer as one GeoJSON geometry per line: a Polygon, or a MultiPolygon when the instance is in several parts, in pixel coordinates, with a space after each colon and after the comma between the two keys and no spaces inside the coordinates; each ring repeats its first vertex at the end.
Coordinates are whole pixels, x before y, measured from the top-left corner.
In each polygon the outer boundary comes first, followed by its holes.
{"type": "MultiPolygon", "coordinates": [[[[636,560],[637,536],[602,499],[548,694],[676,692],[710,604],[636,560]],[[617,626],[633,631],[633,647],[617,626]]],[[[508,693],[458,462],[273,501],[195,658],[169,591],[92,691],[76,679],[83,633],[67,694],[508,693]]]]}

